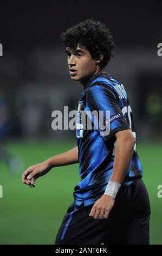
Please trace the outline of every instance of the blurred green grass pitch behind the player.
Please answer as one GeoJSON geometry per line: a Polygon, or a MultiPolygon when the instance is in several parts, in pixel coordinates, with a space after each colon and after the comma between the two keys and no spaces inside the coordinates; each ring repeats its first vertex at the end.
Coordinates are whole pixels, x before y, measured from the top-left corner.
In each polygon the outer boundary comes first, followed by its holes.
{"type": "MultiPolygon", "coordinates": [[[[6,147],[22,157],[24,170],[32,164],[75,147],[76,142],[11,141],[6,147]]],[[[157,187],[162,184],[161,144],[138,143],[144,181],[151,202],[150,243],[162,244],[162,198],[157,187]]],[[[0,163],[0,244],[54,244],[57,230],[80,181],[78,164],[54,168],[36,181],[35,188],[22,184],[21,174],[11,175],[0,163]]],[[[23,170],[22,170],[23,172],[23,170]]]]}

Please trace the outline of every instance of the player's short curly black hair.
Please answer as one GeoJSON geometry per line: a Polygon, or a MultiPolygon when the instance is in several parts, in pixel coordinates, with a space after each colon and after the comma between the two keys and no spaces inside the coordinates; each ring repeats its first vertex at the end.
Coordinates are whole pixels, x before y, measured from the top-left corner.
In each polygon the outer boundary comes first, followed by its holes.
{"type": "Polygon", "coordinates": [[[98,59],[100,53],[103,53],[103,59],[100,63],[105,67],[114,56],[114,41],[111,32],[105,24],[94,19],[80,22],[70,27],[61,34],[61,41],[64,47],[75,50],[77,45],[85,46],[93,59],[98,59]]]}

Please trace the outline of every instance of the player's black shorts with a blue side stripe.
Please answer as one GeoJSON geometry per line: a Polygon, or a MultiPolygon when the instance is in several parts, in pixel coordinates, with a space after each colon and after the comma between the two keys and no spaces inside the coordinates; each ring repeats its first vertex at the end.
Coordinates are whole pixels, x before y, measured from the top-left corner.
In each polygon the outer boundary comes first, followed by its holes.
{"type": "Polygon", "coordinates": [[[70,204],[55,245],[148,245],[150,202],[144,182],[122,185],[108,219],[90,217],[92,205],[70,204]]]}

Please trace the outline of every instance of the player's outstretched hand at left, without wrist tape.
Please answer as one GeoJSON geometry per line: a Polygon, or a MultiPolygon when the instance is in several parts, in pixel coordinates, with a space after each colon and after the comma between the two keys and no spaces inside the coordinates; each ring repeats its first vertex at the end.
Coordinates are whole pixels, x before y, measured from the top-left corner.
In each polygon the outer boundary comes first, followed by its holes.
{"type": "Polygon", "coordinates": [[[25,172],[23,172],[22,182],[30,187],[35,187],[36,179],[48,173],[50,169],[51,168],[48,166],[47,161],[30,166],[27,170],[25,170],[25,172]]]}

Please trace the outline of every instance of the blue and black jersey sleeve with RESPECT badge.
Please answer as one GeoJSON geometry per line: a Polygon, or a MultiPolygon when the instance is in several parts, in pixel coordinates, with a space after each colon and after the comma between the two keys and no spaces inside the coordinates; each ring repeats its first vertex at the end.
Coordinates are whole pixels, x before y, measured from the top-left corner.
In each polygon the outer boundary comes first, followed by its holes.
{"type": "MultiPolygon", "coordinates": [[[[113,89],[101,84],[89,87],[86,93],[88,109],[90,112],[97,111],[98,116],[101,113],[103,125],[108,127],[108,134],[104,132],[105,135],[103,135],[102,132],[101,135],[105,141],[108,141],[116,132],[129,129],[117,97],[113,89]]],[[[100,134],[103,131],[99,126],[98,130],[100,134]]]]}

